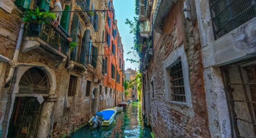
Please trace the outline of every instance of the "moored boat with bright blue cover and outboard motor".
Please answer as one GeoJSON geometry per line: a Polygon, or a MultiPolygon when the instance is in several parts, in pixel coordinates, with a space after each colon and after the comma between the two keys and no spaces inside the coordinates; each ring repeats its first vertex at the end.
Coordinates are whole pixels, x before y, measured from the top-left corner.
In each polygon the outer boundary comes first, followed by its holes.
{"type": "Polygon", "coordinates": [[[103,115],[104,120],[103,119],[99,120],[97,121],[98,124],[95,124],[96,123],[95,120],[97,119],[97,117],[96,118],[93,117],[89,120],[90,126],[97,127],[99,125],[99,126],[108,127],[114,121],[117,111],[114,108],[109,108],[109,109],[102,110],[100,113],[103,115]]]}

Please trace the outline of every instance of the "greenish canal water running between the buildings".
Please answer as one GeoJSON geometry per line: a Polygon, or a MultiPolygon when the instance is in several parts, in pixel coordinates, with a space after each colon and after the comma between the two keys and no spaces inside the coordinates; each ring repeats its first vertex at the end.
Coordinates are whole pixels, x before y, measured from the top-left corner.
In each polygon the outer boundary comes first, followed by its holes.
{"type": "Polygon", "coordinates": [[[116,113],[110,127],[86,126],[70,135],[70,138],[151,138],[151,128],[143,125],[141,104],[131,102],[121,113],[116,113]]]}

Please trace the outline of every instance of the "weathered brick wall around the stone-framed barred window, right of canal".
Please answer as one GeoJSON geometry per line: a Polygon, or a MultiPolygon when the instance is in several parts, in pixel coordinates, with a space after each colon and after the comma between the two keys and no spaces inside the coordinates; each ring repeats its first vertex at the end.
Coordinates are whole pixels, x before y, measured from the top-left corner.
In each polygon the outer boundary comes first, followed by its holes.
{"type": "Polygon", "coordinates": [[[178,0],[172,6],[164,22],[163,33],[154,33],[154,55],[151,59],[151,68],[147,70],[150,78],[154,78],[156,92],[151,101],[151,127],[158,138],[209,138],[198,24],[196,20],[183,20],[183,14],[179,17],[182,12],[179,7],[183,4],[181,1],[178,0]],[[174,18],[171,16],[172,13],[175,13],[174,18]],[[173,26],[170,27],[169,24],[173,26]],[[184,47],[184,56],[188,62],[188,70],[183,72],[188,72],[192,108],[186,103],[169,102],[166,99],[168,92],[165,90],[166,68],[163,61],[170,54],[175,54],[181,46],[184,47]]]}

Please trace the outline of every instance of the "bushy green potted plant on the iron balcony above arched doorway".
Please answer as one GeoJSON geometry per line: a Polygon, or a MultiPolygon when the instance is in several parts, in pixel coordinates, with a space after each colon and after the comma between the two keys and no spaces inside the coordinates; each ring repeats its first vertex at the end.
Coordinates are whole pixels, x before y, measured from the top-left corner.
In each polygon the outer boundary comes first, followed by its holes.
{"type": "Polygon", "coordinates": [[[38,7],[35,10],[29,9],[29,11],[24,11],[18,15],[23,17],[23,23],[25,25],[29,24],[29,28],[32,31],[40,31],[41,24],[49,23],[49,20],[56,18],[54,13],[49,11],[41,12],[38,7]]]}

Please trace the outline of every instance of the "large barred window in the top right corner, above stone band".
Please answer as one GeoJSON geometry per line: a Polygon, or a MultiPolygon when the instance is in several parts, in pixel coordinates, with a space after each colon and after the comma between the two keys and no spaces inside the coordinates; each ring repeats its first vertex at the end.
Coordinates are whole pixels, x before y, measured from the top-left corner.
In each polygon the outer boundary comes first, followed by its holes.
{"type": "Polygon", "coordinates": [[[210,0],[215,39],[256,17],[255,6],[255,0],[210,0]]]}

